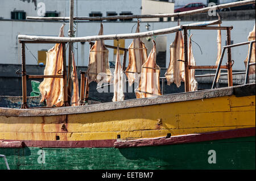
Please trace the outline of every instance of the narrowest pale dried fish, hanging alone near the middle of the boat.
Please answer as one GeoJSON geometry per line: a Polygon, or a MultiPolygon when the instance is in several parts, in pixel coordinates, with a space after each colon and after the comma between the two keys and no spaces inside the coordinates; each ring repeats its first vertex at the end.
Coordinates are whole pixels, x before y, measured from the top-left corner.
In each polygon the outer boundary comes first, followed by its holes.
{"type": "Polygon", "coordinates": [[[117,60],[115,61],[115,71],[114,71],[114,96],[112,101],[122,101],[125,100],[125,95],[123,94],[123,69],[120,62],[119,47],[117,47],[117,60]]]}

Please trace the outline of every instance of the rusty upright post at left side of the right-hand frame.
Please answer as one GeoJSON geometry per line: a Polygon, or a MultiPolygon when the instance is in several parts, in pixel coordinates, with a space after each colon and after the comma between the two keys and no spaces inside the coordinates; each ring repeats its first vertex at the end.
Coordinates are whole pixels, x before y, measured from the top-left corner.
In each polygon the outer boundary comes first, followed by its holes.
{"type": "Polygon", "coordinates": [[[184,28],[184,66],[185,66],[185,92],[189,92],[189,69],[188,69],[188,32],[184,28]]]}

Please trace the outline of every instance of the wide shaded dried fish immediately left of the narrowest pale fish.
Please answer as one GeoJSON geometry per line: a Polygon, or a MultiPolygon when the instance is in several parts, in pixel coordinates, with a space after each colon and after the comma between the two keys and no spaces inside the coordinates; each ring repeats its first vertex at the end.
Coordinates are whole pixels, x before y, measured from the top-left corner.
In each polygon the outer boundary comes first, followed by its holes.
{"type": "MultiPolygon", "coordinates": [[[[103,35],[103,25],[98,35],[103,35]]],[[[96,41],[90,49],[87,75],[89,83],[109,83],[113,75],[109,68],[109,50],[105,47],[104,40],[96,41]]]]}

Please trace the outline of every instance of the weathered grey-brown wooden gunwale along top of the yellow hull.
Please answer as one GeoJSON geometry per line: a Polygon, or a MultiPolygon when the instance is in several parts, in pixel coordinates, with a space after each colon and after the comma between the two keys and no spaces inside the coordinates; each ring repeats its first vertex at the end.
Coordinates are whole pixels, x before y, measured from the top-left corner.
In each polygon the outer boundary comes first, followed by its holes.
{"type": "Polygon", "coordinates": [[[92,104],[86,106],[56,107],[56,108],[37,108],[37,109],[18,109],[0,107],[0,116],[32,117],[32,116],[57,116],[72,115],[77,113],[92,113],[101,111],[120,110],[125,108],[152,106],[157,104],[185,102],[189,100],[200,100],[217,98],[221,96],[250,96],[255,95],[255,83],[223,87],[219,89],[200,90],[193,92],[181,92],[154,96],[152,98],[129,99],[121,102],[108,102],[92,104]]]}

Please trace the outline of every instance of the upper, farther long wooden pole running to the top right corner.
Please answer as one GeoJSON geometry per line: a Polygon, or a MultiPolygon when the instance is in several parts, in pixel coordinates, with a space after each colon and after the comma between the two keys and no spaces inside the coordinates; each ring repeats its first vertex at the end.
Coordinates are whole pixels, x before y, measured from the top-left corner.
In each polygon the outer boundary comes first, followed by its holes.
{"type": "MultiPolygon", "coordinates": [[[[171,17],[181,17],[181,16],[188,16],[194,14],[200,14],[204,12],[208,12],[209,10],[220,10],[225,9],[228,7],[236,7],[236,6],[243,6],[243,5],[250,5],[254,4],[255,0],[246,0],[246,1],[238,1],[232,3],[225,3],[222,5],[212,6],[212,7],[205,7],[202,9],[192,10],[192,11],[184,11],[184,12],[177,12],[171,14],[151,14],[151,15],[119,15],[119,16],[105,16],[105,17],[74,17],[75,20],[113,20],[113,19],[139,19],[139,18],[171,18],[171,17]]],[[[70,17],[31,17],[27,16],[27,19],[34,19],[34,20],[69,20],[70,17]]]]}

